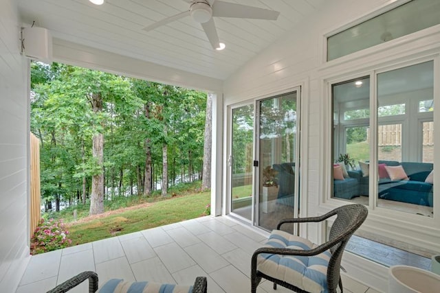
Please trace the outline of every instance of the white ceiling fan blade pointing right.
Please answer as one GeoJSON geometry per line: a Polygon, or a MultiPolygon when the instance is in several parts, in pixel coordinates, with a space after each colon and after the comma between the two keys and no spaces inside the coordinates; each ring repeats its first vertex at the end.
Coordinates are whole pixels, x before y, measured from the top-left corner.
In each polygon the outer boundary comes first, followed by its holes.
{"type": "Polygon", "coordinates": [[[212,5],[212,16],[235,17],[239,19],[267,19],[276,21],[280,12],[248,5],[215,1],[212,5]]]}

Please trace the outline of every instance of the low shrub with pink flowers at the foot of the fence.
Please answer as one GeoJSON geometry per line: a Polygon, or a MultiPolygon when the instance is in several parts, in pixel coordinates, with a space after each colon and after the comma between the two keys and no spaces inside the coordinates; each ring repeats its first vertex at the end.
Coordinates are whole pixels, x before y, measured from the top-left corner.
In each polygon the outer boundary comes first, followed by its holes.
{"type": "Polygon", "coordinates": [[[35,228],[34,237],[32,237],[31,255],[70,246],[72,240],[67,235],[69,235],[69,231],[65,230],[61,220],[41,219],[39,225],[35,228]]]}

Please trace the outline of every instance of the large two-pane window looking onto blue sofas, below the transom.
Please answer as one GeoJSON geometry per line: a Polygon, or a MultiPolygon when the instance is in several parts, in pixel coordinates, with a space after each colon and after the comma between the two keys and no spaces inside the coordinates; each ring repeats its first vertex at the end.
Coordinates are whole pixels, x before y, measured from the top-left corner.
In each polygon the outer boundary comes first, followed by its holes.
{"type": "Polygon", "coordinates": [[[332,84],[331,100],[332,198],[433,217],[434,60],[332,84]]]}

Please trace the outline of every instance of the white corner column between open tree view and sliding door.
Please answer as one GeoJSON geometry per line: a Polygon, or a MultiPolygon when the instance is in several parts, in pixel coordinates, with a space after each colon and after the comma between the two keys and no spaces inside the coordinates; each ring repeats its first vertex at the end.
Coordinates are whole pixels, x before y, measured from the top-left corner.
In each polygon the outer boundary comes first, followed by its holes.
{"type": "Polygon", "coordinates": [[[212,95],[211,214],[221,215],[223,196],[223,93],[212,95]]]}

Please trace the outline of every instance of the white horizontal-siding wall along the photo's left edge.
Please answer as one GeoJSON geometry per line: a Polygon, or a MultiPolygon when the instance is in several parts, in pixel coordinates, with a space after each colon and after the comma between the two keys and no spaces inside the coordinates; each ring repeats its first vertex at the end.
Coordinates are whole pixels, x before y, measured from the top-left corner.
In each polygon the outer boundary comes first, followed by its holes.
{"type": "Polygon", "coordinates": [[[16,4],[0,8],[0,292],[14,292],[29,259],[28,61],[16,4]]]}

